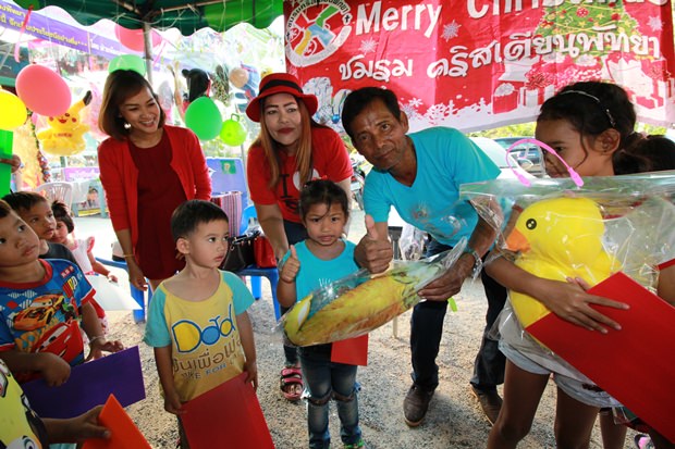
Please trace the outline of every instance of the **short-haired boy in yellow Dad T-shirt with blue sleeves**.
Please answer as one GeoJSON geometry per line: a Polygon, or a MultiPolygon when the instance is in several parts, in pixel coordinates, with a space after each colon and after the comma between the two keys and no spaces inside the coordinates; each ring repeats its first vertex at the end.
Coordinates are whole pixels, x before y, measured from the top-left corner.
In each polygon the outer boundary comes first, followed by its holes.
{"type": "Polygon", "coordinates": [[[185,201],[173,212],[171,233],[185,267],[155,290],[144,340],[155,348],[164,409],[179,415],[181,447],[186,449],[180,420],[183,402],[244,371],[246,382],[258,387],[246,312],[254,298],[235,274],[218,270],[228,253],[229,224],[222,209],[210,201],[185,201]],[[205,332],[209,328],[218,332],[205,332]]]}

